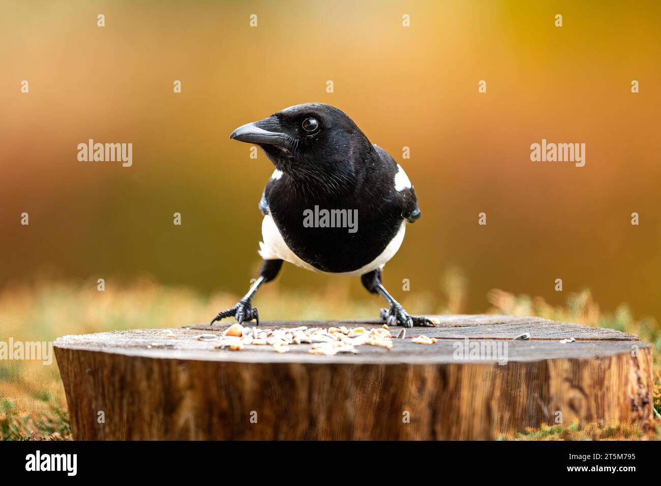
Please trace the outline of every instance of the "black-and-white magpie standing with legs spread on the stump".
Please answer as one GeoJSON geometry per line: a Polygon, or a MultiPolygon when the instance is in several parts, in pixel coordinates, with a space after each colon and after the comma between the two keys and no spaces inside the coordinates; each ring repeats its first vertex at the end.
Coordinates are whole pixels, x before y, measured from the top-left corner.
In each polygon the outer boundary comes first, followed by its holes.
{"type": "Polygon", "coordinates": [[[264,216],[258,278],[211,324],[233,316],[259,325],[253,296],[286,261],[314,272],[360,276],[390,306],[381,309],[389,326],[434,326],[409,315],[381,283],[381,269],[399,250],[407,223],[420,218],[420,208],[404,169],[351,118],[329,104],[298,104],[240,126],[229,138],[259,145],[275,170],[258,204],[264,216]],[[319,208],[336,216],[332,223],[318,217],[319,208]],[[306,221],[313,211],[317,216],[306,221]],[[353,229],[343,227],[347,214],[357,217],[353,229]]]}

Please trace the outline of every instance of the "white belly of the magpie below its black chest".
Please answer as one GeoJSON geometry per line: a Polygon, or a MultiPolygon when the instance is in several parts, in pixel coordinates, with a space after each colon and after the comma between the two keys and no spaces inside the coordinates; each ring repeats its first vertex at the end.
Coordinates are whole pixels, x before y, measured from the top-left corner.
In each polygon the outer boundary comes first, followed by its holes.
{"type": "MultiPolygon", "coordinates": [[[[397,231],[397,235],[391,239],[390,243],[388,243],[387,247],[385,247],[381,255],[376,257],[370,263],[362,266],[361,268],[358,268],[358,270],[352,270],[351,272],[333,273],[333,275],[358,276],[371,272],[372,270],[376,270],[377,268],[383,268],[383,265],[385,265],[387,261],[394,257],[395,253],[397,253],[397,250],[399,250],[399,247],[401,247],[405,232],[406,221],[403,221],[399,227],[399,231],[397,231]]],[[[280,234],[278,226],[276,226],[276,223],[270,214],[264,216],[264,220],[262,221],[262,239],[264,241],[260,241],[260,249],[258,253],[264,260],[280,259],[295,264],[296,266],[300,266],[301,268],[305,268],[305,270],[332,273],[319,270],[318,268],[315,268],[311,264],[301,260],[297,255],[295,255],[290,247],[287,246],[287,243],[285,243],[284,238],[280,234]]]]}

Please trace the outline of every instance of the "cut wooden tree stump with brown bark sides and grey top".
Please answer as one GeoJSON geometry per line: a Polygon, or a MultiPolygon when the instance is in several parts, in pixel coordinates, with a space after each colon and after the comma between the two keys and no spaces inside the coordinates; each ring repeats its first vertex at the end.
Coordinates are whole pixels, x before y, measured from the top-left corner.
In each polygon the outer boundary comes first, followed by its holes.
{"type": "Polygon", "coordinates": [[[232,351],[196,340],[225,323],[171,329],[175,337],[162,329],[65,336],[55,348],[77,440],[493,439],[559,420],[644,428],[652,419],[652,350],[636,336],[537,317],[437,317],[438,327],[407,329],[390,350],[364,345],[358,354],[310,354],[310,344],[232,351]],[[514,339],[524,333],[529,339],[514,339]],[[438,341],[415,344],[418,335],[438,341]]]}

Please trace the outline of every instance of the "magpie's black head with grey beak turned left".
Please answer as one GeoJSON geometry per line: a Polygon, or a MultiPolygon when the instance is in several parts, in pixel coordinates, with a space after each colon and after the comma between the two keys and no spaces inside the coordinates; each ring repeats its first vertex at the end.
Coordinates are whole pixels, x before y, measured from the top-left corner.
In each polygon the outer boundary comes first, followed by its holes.
{"type": "Polygon", "coordinates": [[[262,147],[276,168],[296,175],[352,173],[373,150],[351,118],[334,106],[290,106],[264,120],[240,126],[229,138],[262,147]]]}

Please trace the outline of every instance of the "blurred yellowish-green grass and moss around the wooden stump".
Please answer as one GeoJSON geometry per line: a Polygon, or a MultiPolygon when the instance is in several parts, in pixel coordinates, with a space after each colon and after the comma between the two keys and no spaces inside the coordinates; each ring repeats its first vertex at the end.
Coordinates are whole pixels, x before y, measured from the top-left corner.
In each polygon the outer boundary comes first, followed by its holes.
{"type": "MultiPolygon", "coordinates": [[[[442,279],[444,302],[434,307],[429,296],[417,294],[403,300],[416,313],[461,313],[467,282],[459,270],[442,279]]],[[[610,327],[639,335],[654,350],[654,409],[659,420],[651,430],[612,423],[541,426],[502,436],[500,440],[661,440],[661,329],[653,319],[635,319],[627,305],[613,313],[600,311],[589,291],[570,294],[565,305],[552,306],[541,298],[516,296],[502,290],[487,295],[488,313],[539,315],[556,321],[610,327]]],[[[43,282],[35,286],[6,288],[0,292],[0,341],[54,341],[66,334],[115,329],[180,327],[215,315],[237,302],[237,296],[217,293],[203,296],[192,290],[137,280],[120,290],[98,292],[96,282],[71,284],[43,282]]],[[[366,297],[351,300],[345,288],[329,286],[311,296],[285,291],[277,282],[260,291],[258,307],[280,319],[374,317],[379,302],[366,297]],[[342,302],[337,306],[336,302],[342,302]]],[[[0,361],[0,438],[3,440],[70,440],[64,390],[56,362],[0,361]]]]}

